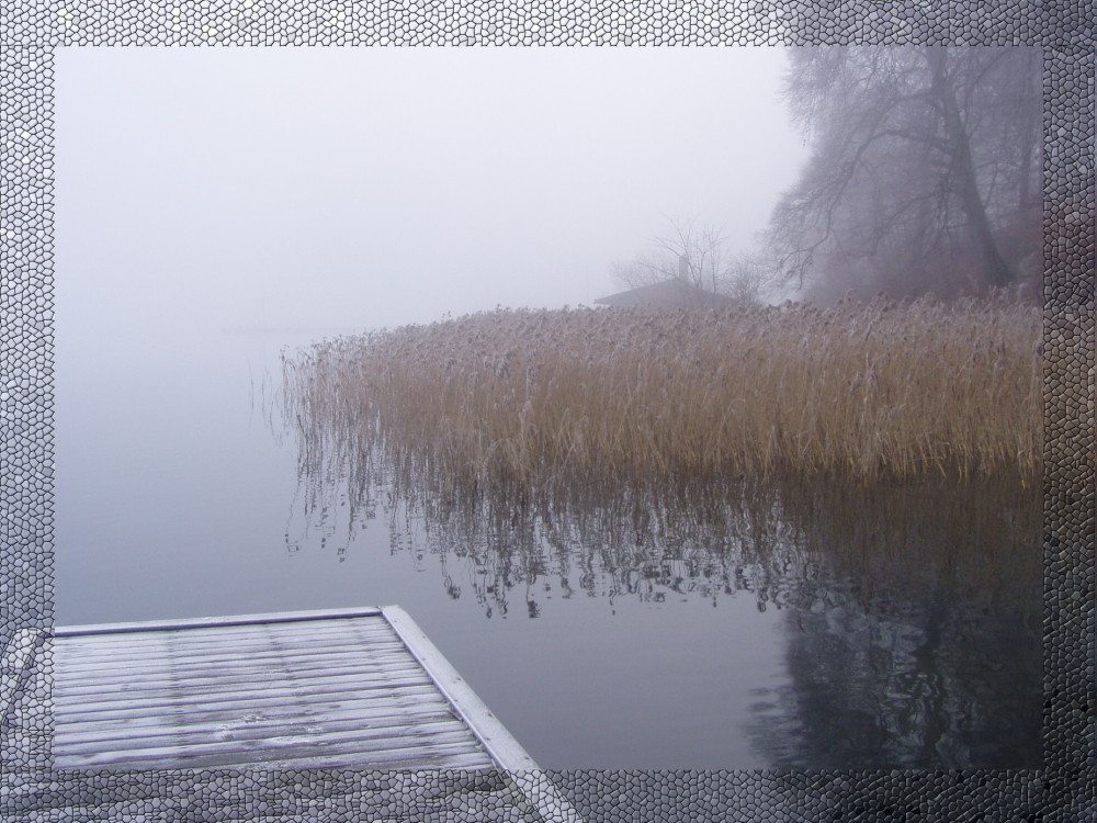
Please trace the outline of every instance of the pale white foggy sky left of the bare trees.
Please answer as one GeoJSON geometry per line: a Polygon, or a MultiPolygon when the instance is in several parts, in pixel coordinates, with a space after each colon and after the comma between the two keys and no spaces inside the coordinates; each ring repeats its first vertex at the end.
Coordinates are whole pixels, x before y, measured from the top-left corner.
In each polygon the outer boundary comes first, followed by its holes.
{"type": "Polygon", "coordinates": [[[805,154],[783,67],[776,48],[58,49],[59,334],[589,304],[663,215],[745,248],[805,154]]]}

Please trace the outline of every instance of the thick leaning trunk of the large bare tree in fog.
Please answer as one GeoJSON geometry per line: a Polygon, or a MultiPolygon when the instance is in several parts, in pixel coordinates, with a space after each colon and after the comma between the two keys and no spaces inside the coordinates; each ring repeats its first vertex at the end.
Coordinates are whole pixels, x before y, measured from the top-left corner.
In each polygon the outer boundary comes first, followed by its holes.
{"type": "Polygon", "coordinates": [[[952,88],[948,69],[945,65],[945,49],[927,46],[923,54],[932,75],[932,91],[941,104],[945,134],[951,147],[952,168],[950,169],[950,177],[952,187],[960,200],[964,215],[968,217],[971,239],[979,255],[983,277],[989,285],[1009,285],[1014,281],[1014,272],[1010,271],[1006,261],[1002,258],[997,245],[994,243],[991,222],[986,216],[986,207],[979,193],[979,183],[975,179],[975,165],[971,157],[971,140],[964,127],[963,119],[960,115],[960,105],[957,103],[955,90],[952,88]]]}

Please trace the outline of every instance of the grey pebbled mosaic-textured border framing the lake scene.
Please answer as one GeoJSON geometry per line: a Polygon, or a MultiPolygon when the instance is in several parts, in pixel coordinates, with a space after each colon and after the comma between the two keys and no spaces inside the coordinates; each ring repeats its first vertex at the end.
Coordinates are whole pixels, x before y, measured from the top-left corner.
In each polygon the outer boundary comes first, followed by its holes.
{"type": "MultiPolygon", "coordinates": [[[[53,624],[54,49],[774,44],[1044,49],[1044,766],[1036,771],[554,771],[590,821],[1083,821],[1094,787],[1094,18],[1081,0],[0,0],[0,642],[53,624]]],[[[48,679],[12,707],[2,821],[528,820],[451,773],[50,769],[48,679]]],[[[543,779],[545,776],[530,776],[543,779]]]]}

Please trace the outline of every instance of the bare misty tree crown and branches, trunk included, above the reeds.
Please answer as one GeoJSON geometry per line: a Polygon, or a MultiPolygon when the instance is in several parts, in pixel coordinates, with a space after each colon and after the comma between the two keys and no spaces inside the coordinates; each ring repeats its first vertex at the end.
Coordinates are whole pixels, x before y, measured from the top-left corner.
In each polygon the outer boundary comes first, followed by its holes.
{"type": "Polygon", "coordinates": [[[1039,273],[1036,48],[794,49],[785,94],[812,144],[774,210],[785,277],[817,300],[975,294],[1039,273]]]}

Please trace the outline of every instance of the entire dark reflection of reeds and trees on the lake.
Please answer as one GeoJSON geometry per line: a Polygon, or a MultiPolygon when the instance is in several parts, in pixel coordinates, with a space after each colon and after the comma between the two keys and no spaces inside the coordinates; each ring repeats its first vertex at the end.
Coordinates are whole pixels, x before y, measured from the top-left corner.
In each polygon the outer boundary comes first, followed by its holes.
{"type": "Polygon", "coordinates": [[[744,593],[784,611],[785,685],[748,730],[774,766],[1039,766],[1041,501],[1016,478],[456,489],[313,441],[299,498],[294,545],[344,554],[385,516],[395,552],[436,555],[488,617],[744,593]]]}

